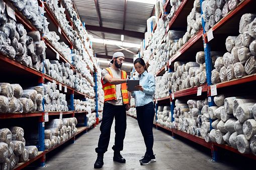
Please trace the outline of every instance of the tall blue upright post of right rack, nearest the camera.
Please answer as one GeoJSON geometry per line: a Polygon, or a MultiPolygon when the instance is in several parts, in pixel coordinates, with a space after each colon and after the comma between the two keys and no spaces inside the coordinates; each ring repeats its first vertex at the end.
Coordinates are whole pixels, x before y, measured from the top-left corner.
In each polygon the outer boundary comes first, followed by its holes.
{"type": "MultiPolygon", "coordinates": [[[[201,6],[201,15],[203,15],[203,10],[202,10],[202,3],[204,0],[200,0],[200,6],[201,6]]],[[[203,26],[203,34],[205,35],[206,31],[205,31],[205,21],[202,18],[202,26],[203,26]]],[[[208,96],[208,105],[210,106],[214,106],[214,102],[213,102],[213,97],[210,96],[210,92],[209,92],[209,87],[210,85],[212,85],[211,82],[211,72],[212,72],[212,58],[211,58],[211,49],[210,49],[210,44],[207,41],[207,37],[203,36],[203,43],[204,43],[204,53],[205,53],[205,65],[206,65],[206,78],[207,78],[207,85],[208,85],[208,92],[207,92],[207,96],[208,96]]],[[[212,129],[212,119],[210,119],[210,128],[212,129]]],[[[212,159],[211,161],[217,161],[218,160],[218,152],[216,147],[214,147],[214,145],[212,144],[211,147],[212,150],[212,159]]]]}

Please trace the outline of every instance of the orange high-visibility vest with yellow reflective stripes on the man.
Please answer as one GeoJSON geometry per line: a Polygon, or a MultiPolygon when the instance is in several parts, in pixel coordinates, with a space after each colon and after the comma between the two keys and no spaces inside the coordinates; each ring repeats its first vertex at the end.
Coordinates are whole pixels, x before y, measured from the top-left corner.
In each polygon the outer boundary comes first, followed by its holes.
{"type": "MultiPolygon", "coordinates": [[[[109,72],[109,75],[113,78],[113,74],[112,74],[110,68],[106,68],[106,70],[109,72]]],[[[126,77],[127,77],[127,73],[125,71],[121,70],[121,79],[126,79],[126,77]]],[[[117,100],[116,85],[110,84],[108,82],[106,84],[103,84],[103,80],[101,80],[101,83],[102,83],[102,87],[104,90],[104,97],[105,97],[104,102],[109,101],[109,100],[117,100]]],[[[129,104],[126,83],[121,84],[121,93],[122,93],[122,97],[123,97],[123,104],[129,104]]]]}

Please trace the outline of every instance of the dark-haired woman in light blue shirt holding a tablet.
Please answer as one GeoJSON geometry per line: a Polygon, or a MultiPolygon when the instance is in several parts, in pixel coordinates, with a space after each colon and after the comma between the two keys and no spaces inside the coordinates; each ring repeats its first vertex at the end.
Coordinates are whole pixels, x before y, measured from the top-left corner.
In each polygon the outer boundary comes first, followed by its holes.
{"type": "Polygon", "coordinates": [[[155,79],[154,76],[147,72],[146,64],[142,58],[138,58],[134,61],[134,68],[139,73],[139,84],[136,86],[138,91],[133,91],[132,96],[135,97],[136,113],[139,128],[144,137],[146,145],[146,153],[140,164],[148,164],[155,161],[153,153],[153,120],[154,120],[154,104],[153,95],[155,91],[155,79]]]}

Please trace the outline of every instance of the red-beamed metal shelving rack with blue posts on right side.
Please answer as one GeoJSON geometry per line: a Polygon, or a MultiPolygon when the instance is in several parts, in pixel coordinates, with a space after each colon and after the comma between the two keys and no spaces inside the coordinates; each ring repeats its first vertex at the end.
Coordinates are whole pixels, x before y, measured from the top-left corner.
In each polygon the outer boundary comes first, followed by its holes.
{"type": "MultiPolygon", "coordinates": [[[[204,0],[201,0],[200,3],[202,4],[204,0]]],[[[166,0],[165,5],[164,5],[164,12],[166,12],[166,7],[167,4],[169,3],[169,0],[166,0]]],[[[169,30],[172,29],[177,29],[181,27],[186,27],[186,21],[187,16],[189,15],[191,9],[193,8],[193,3],[194,1],[188,1],[188,0],[183,0],[182,4],[180,5],[179,9],[175,12],[174,17],[170,20],[167,28],[166,28],[166,34],[169,30]],[[185,23],[185,24],[184,24],[185,23]]],[[[171,64],[175,61],[180,61],[186,59],[187,56],[191,56],[191,54],[196,54],[198,52],[198,49],[201,49],[201,51],[204,50],[205,52],[205,61],[206,61],[206,70],[207,70],[207,84],[200,85],[202,87],[202,96],[208,97],[209,101],[209,106],[213,106],[213,97],[211,96],[211,71],[212,71],[212,64],[211,64],[211,50],[217,50],[219,48],[219,44],[217,43],[218,41],[223,42],[223,38],[221,36],[223,35],[235,35],[237,34],[235,30],[238,31],[238,29],[234,29],[234,26],[239,25],[240,18],[243,14],[245,13],[255,13],[255,7],[256,2],[253,0],[245,0],[242,1],[236,9],[233,11],[229,12],[228,15],[224,18],[222,18],[221,21],[219,21],[213,28],[213,34],[214,34],[214,39],[208,42],[207,40],[207,32],[205,32],[204,29],[200,30],[194,37],[191,37],[191,39],[184,44],[184,46],[179,49],[179,51],[172,56],[168,63],[160,69],[155,76],[162,76],[164,72],[166,71],[166,68],[171,67],[171,64]],[[202,41],[203,39],[203,41],[202,41]]],[[[203,21],[203,28],[204,28],[204,21],[203,21]]],[[[225,44],[225,43],[223,43],[225,44]]],[[[170,69],[169,69],[170,70],[170,69]]],[[[255,83],[256,81],[256,74],[244,76],[239,79],[233,79],[230,81],[226,82],[221,82],[216,84],[217,90],[223,90],[224,88],[229,88],[237,85],[242,85],[244,83],[255,83]]],[[[174,121],[173,114],[174,114],[174,107],[175,99],[180,99],[180,98],[196,98],[200,97],[197,96],[197,91],[198,87],[192,87],[184,90],[180,90],[177,92],[170,92],[170,95],[167,97],[163,97],[160,99],[154,100],[155,102],[155,112],[157,113],[157,107],[159,103],[165,103],[165,105],[168,105],[167,103],[170,102],[170,108],[172,112],[172,122],[174,121]]],[[[225,91],[223,91],[225,92],[225,91]]],[[[132,117],[132,116],[131,116],[132,117]]],[[[156,117],[157,119],[157,117],[156,117]]],[[[211,122],[211,120],[210,120],[211,122]]],[[[229,151],[232,151],[237,154],[241,154],[238,152],[237,149],[234,149],[233,147],[227,145],[227,144],[217,144],[214,142],[206,142],[202,137],[200,136],[194,136],[191,134],[188,134],[186,132],[183,132],[178,129],[170,129],[168,127],[161,126],[158,123],[154,123],[156,128],[160,127],[162,129],[168,130],[172,132],[173,137],[176,135],[182,136],[184,138],[187,138],[191,141],[194,141],[202,146],[205,146],[212,151],[212,161],[217,161],[218,160],[218,148],[226,149],[229,151]]],[[[211,127],[212,128],[212,127],[211,127]]],[[[252,153],[250,154],[241,154],[243,156],[249,157],[251,159],[256,160],[256,156],[253,155],[252,153]]]]}

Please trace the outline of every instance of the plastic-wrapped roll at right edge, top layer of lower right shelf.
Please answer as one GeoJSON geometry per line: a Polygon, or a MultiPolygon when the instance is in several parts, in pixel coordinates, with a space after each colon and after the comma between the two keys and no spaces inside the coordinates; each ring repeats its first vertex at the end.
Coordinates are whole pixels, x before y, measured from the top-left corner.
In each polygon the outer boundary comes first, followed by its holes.
{"type": "Polygon", "coordinates": [[[254,103],[244,103],[237,107],[236,118],[243,123],[245,120],[253,118],[252,108],[254,103]]]}

